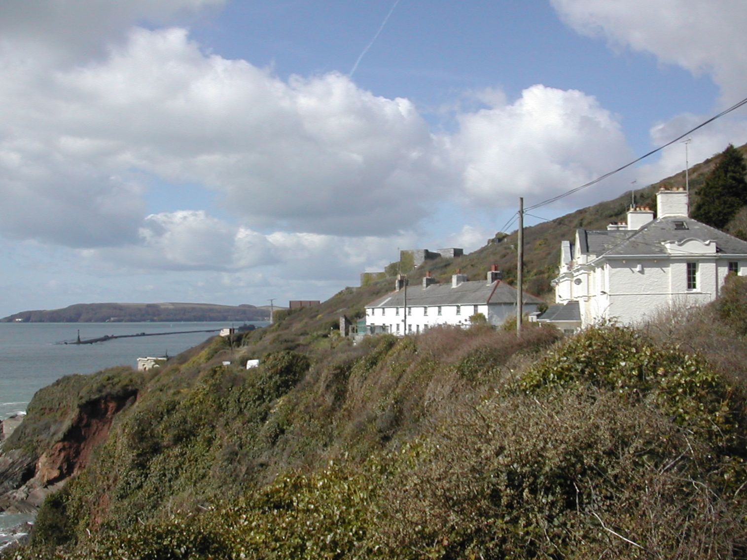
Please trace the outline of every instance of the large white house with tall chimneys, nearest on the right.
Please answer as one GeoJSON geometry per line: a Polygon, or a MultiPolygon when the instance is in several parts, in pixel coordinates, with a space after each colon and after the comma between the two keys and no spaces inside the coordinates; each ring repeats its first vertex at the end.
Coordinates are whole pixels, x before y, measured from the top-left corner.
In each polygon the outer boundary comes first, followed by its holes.
{"type": "Polygon", "coordinates": [[[688,208],[684,189],[660,190],[655,219],[637,207],[606,231],[579,228],[573,243],[561,242],[556,304],[538,320],[568,332],[716,299],[728,273],[746,273],[747,242],[692,220],[688,208]]]}

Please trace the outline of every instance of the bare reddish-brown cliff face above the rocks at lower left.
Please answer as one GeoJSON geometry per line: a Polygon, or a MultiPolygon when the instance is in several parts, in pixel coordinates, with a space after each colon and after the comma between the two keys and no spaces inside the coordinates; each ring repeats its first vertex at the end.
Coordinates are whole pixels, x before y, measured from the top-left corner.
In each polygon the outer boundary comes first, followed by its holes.
{"type": "Polygon", "coordinates": [[[41,455],[35,478],[43,486],[53,485],[78,473],[90,460],[91,452],[104,441],[114,416],[134,402],[137,393],[105,397],[85,403],[72,417],[61,441],[41,455]]]}

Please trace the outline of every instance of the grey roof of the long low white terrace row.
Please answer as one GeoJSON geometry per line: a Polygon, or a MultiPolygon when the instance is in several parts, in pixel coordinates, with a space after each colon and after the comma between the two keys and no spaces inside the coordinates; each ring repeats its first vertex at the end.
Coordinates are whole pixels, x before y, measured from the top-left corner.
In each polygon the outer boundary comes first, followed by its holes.
{"type": "MultiPolygon", "coordinates": [[[[503,281],[488,284],[485,280],[465,281],[456,287],[451,284],[431,284],[429,287],[407,287],[407,305],[484,305],[516,302],[516,290],[503,281]]],[[[524,303],[542,303],[542,299],[524,293],[524,303]]],[[[366,305],[373,307],[403,307],[405,290],[388,293],[366,305]]]]}

